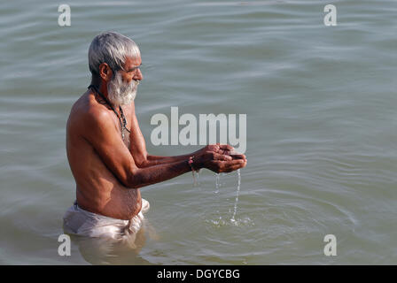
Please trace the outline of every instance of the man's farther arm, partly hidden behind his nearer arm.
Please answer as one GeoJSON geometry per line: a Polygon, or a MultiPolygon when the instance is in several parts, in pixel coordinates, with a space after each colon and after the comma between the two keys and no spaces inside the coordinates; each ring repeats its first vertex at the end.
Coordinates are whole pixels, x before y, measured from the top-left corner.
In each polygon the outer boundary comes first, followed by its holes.
{"type": "MultiPolygon", "coordinates": [[[[136,162],[136,166],[139,168],[150,167],[159,164],[170,164],[178,161],[184,161],[189,159],[189,157],[198,157],[200,154],[203,154],[206,151],[214,151],[219,154],[230,154],[230,151],[233,150],[233,147],[227,144],[217,144],[206,146],[203,149],[199,149],[190,154],[174,156],[174,157],[159,157],[149,155],[146,151],[146,143],[144,142],[144,135],[141,132],[139,127],[138,120],[136,119],[135,112],[135,103],[132,103],[132,112],[131,112],[131,133],[129,135],[131,149],[130,153],[136,162]]],[[[244,155],[236,155],[236,158],[245,159],[244,155]]]]}

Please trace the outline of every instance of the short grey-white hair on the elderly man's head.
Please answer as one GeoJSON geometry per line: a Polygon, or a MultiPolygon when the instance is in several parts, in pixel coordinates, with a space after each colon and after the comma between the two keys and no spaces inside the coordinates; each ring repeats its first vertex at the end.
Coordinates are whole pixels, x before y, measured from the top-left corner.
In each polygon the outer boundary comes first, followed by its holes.
{"type": "Polygon", "coordinates": [[[99,74],[99,65],[107,63],[114,73],[122,69],[126,57],[140,57],[136,42],[115,32],[106,32],[94,37],[90,44],[89,65],[93,75],[99,74]]]}

